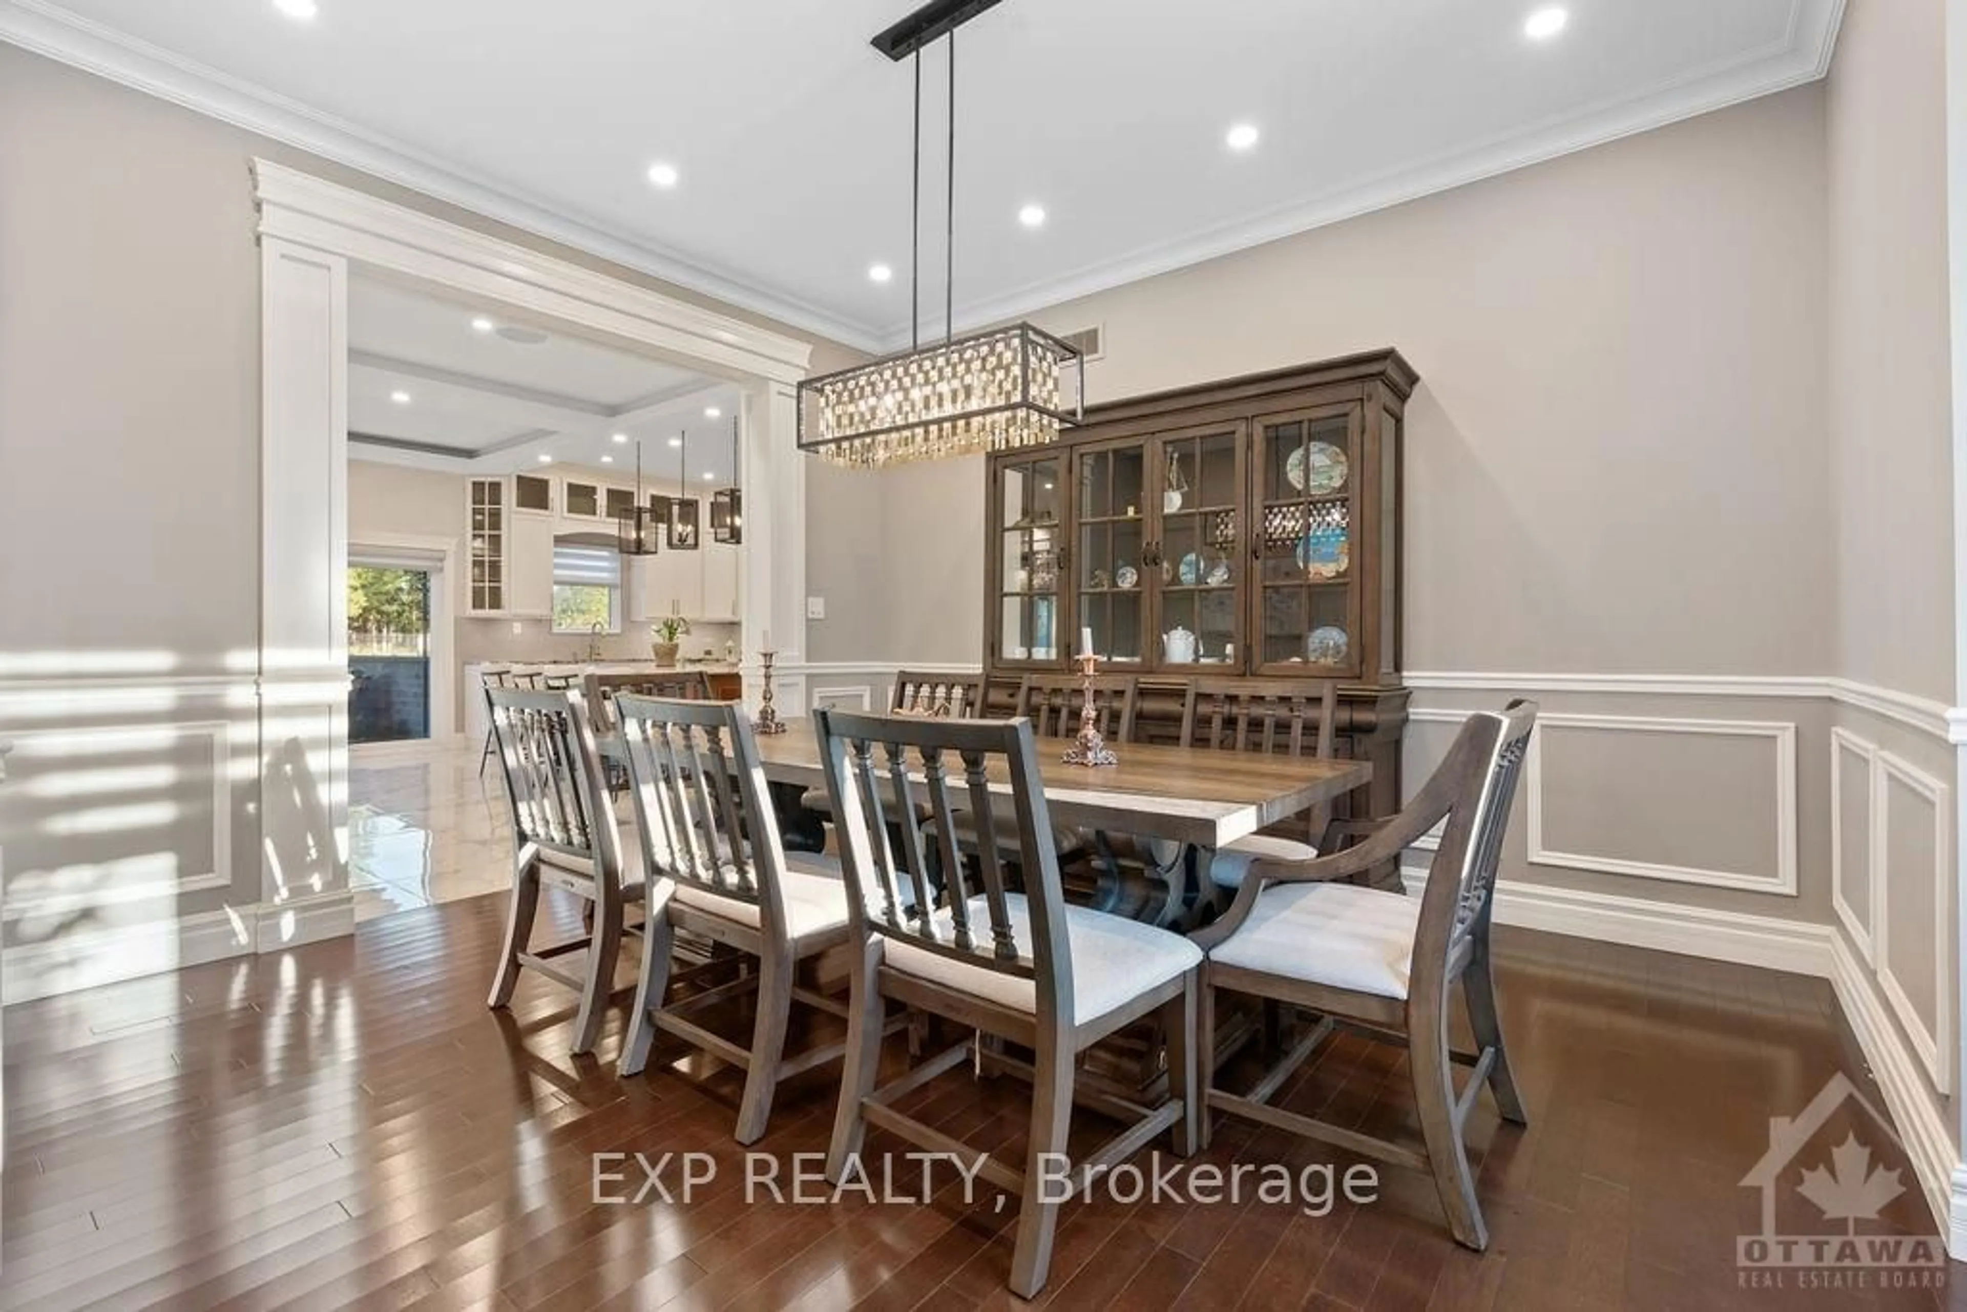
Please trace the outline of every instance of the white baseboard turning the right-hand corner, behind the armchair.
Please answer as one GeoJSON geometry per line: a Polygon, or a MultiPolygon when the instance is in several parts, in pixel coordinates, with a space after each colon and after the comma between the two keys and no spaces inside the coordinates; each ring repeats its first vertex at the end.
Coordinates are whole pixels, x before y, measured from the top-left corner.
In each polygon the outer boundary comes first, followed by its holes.
{"type": "MultiPolygon", "coordinates": [[[[1401,875],[1412,893],[1426,887],[1424,865],[1404,865],[1401,875]]],[[[1884,999],[1841,932],[1827,924],[1522,881],[1497,883],[1495,921],[1829,980],[1878,1080],[1920,1190],[1945,1231],[1947,1253],[1955,1261],[1967,1261],[1967,1164],[1953,1145],[1951,1125],[1928,1094],[1930,1082],[1920,1056],[1892,1023],[1884,999]]]]}

